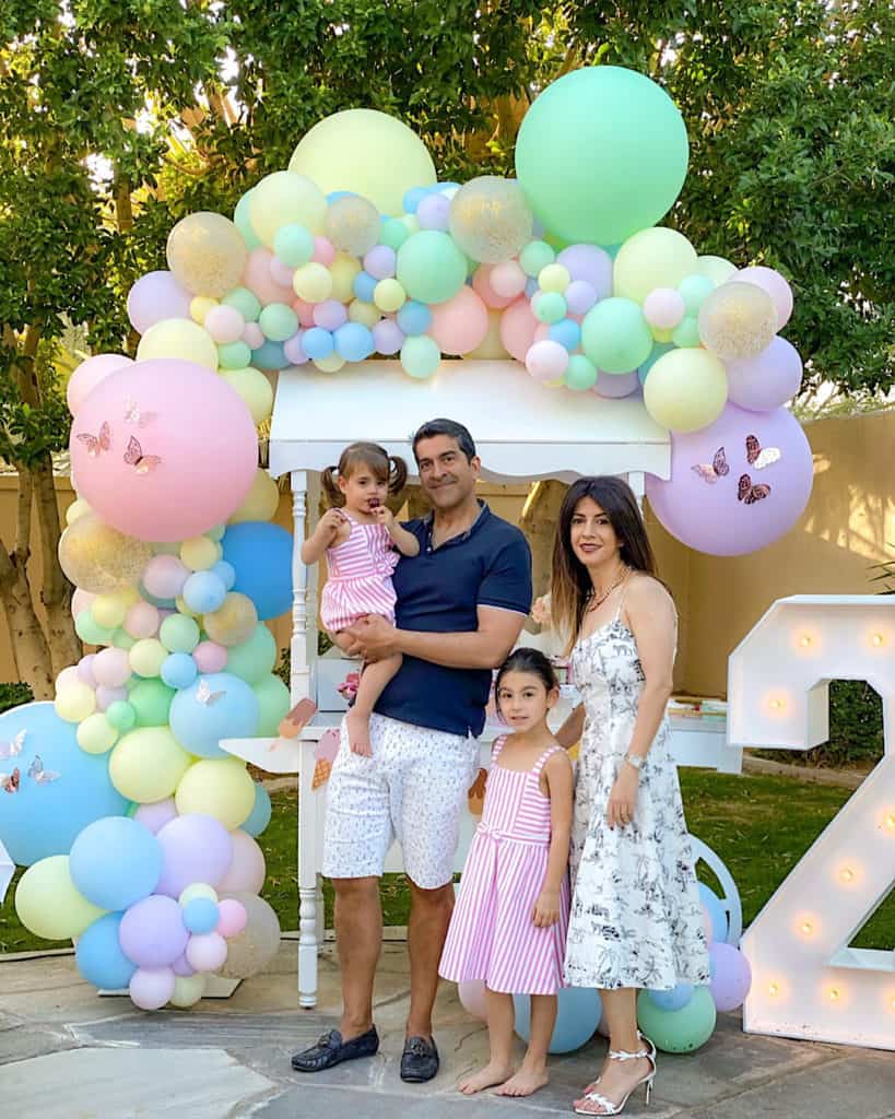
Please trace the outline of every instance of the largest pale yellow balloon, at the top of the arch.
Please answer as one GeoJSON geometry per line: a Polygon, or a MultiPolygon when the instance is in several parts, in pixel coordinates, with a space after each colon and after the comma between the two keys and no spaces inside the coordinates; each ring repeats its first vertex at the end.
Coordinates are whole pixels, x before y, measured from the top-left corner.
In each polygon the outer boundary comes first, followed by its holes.
{"type": "Polygon", "coordinates": [[[374,109],[347,109],[314,124],[299,142],[289,169],[313,179],[327,195],[351,190],[380,214],[393,215],[404,213],[402,199],[411,187],[434,186],[437,179],[416,133],[374,109]]]}

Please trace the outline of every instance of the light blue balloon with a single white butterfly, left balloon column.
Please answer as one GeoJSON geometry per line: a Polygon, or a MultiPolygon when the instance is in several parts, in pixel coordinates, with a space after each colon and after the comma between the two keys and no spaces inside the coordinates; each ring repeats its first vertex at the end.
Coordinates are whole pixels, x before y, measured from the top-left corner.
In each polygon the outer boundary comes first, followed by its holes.
{"type": "Polygon", "coordinates": [[[249,739],[258,725],[258,700],[232,673],[202,674],[171,703],[171,731],[190,753],[227,758],[220,739],[249,739]]]}

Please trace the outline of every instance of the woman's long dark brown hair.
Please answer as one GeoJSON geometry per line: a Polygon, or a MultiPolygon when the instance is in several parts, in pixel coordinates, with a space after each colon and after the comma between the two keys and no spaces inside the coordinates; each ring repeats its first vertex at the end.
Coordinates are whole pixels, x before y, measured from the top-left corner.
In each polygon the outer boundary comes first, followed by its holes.
{"type": "Polygon", "coordinates": [[[632,571],[658,577],[656,557],[631,487],[611,474],[580,478],[569,486],[556,526],[550,580],[550,614],[556,629],[567,638],[569,649],[578,638],[587,599],[593,591],[587,568],[572,551],[572,518],[585,497],[595,501],[609,518],[624,563],[632,571]]]}

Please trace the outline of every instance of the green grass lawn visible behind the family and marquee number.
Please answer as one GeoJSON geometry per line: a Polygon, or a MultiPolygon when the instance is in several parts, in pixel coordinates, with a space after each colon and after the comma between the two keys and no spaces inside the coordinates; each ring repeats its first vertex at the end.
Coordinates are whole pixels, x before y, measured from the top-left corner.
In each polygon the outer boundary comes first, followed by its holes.
{"type": "MultiPolygon", "coordinates": [[[[690,830],[720,856],[743,900],[745,924],[755,916],[802,854],[848,800],[848,789],[809,784],[785,777],[736,777],[708,770],[680,771],[690,830]]],[[[267,859],[264,896],[283,929],[298,928],[298,876],[294,793],[273,797],[271,824],[261,837],[267,859]]],[[[712,885],[712,875],[706,881],[712,885]]],[[[12,908],[15,882],[0,909],[0,951],[63,948],[38,940],[22,929],[12,908]]],[[[327,923],[332,922],[332,892],[326,884],[327,923]]],[[[408,896],[403,875],[383,882],[386,924],[406,924],[408,896]]],[[[895,894],[889,895],[855,943],[861,948],[895,947],[895,894]]]]}

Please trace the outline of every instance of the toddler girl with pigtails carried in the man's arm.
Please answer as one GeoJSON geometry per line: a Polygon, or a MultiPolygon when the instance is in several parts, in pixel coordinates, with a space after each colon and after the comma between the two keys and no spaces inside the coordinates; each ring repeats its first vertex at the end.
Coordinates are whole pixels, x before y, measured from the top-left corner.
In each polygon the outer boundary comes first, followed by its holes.
{"type": "MultiPolygon", "coordinates": [[[[339,464],[323,471],[330,508],[302,544],[301,558],[310,565],[326,553],[328,579],[320,617],[345,651],[354,643],[346,631],[368,614],[381,614],[395,623],[392,572],[398,552],[415,556],[420,543],[401,527],[385,502],[404,488],[406,480],[404,460],[389,457],[376,443],[351,443],[342,451],[339,464]]],[[[369,756],[370,713],[399,667],[399,656],[364,667],[355,704],[346,715],[348,741],[356,754],[369,756]]]]}

